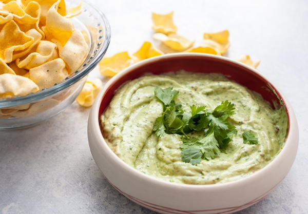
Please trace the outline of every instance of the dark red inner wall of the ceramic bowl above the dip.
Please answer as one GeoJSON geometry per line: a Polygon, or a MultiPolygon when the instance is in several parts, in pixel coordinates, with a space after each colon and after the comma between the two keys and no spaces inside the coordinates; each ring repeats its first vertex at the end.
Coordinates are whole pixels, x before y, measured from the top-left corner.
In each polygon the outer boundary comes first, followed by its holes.
{"type": "MultiPolygon", "coordinates": [[[[136,79],[145,73],[162,74],[179,70],[197,73],[224,74],[229,80],[233,80],[246,86],[250,90],[260,93],[263,96],[263,99],[268,101],[273,108],[279,108],[283,105],[288,115],[285,102],[278,90],[257,71],[254,71],[254,69],[222,56],[186,53],[168,54],[162,57],[159,56],[152,58],[135,64],[134,66],[127,68],[123,73],[114,76],[114,79],[110,80],[110,84],[103,94],[99,116],[109,105],[114,91],[125,82],[136,79]]],[[[290,123],[289,115],[288,121],[290,123]]]]}

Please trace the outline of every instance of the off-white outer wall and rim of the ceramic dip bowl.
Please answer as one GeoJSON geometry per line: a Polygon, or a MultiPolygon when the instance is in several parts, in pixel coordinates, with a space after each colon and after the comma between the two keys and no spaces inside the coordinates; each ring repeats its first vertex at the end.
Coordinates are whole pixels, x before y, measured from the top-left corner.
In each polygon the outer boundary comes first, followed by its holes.
{"type": "MultiPolygon", "coordinates": [[[[183,54],[187,53],[174,55],[183,54]]],[[[196,53],[193,54],[200,55],[196,53]]],[[[221,57],[215,55],[207,56],[221,57]]],[[[163,57],[167,56],[165,55],[163,57]]],[[[160,181],[130,167],[108,147],[102,136],[99,125],[99,108],[105,90],[112,82],[121,78],[124,73],[130,72],[137,66],[142,66],[144,63],[152,62],[160,58],[161,57],[155,57],[146,62],[136,64],[114,76],[100,92],[98,99],[91,109],[88,122],[89,146],[95,162],[104,173],[105,177],[113,186],[117,187],[123,193],[139,200],[152,203],[153,205],[149,205],[148,203],[143,204],[142,201],[137,201],[139,204],[161,213],[231,213],[251,206],[264,198],[284,179],[294,162],[298,147],[298,125],[296,116],[290,103],[279,90],[278,92],[281,94],[290,116],[288,137],[283,149],[277,157],[267,166],[256,171],[252,176],[247,178],[229,183],[210,185],[174,184],[160,181]],[[172,210],[163,207],[172,208],[172,210]],[[186,212],[180,210],[186,210],[186,212]],[[191,211],[187,212],[187,210],[191,211]]],[[[229,60],[225,57],[223,58],[229,60]]],[[[256,70],[250,67],[248,68],[256,72],[256,70]]],[[[264,79],[266,80],[266,78],[264,79]]],[[[128,198],[132,199],[129,196],[128,198]]],[[[136,202],[136,200],[134,201],[136,202]]]]}

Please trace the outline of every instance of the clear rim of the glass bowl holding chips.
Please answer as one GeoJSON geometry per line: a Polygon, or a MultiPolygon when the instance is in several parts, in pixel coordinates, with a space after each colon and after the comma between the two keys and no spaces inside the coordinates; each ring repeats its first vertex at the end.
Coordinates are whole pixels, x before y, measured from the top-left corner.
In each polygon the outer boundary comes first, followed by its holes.
{"type": "Polygon", "coordinates": [[[61,83],[56,83],[50,88],[42,89],[41,91],[30,93],[25,96],[16,96],[15,98],[3,99],[3,100],[0,99],[0,108],[13,107],[13,106],[31,103],[31,102],[46,98],[47,96],[53,95],[59,91],[62,91],[68,88],[69,86],[75,84],[79,80],[81,80],[102,60],[104,54],[106,53],[108,49],[109,43],[110,43],[110,38],[111,38],[110,24],[105,14],[101,12],[100,10],[96,9],[91,3],[89,3],[86,0],[83,0],[83,4],[86,4],[87,6],[89,6],[102,19],[102,24],[100,23],[100,25],[98,25],[97,27],[101,27],[104,29],[103,32],[105,33],[104,35],[105,38],[104,38],[104,41],[99,42],[98,44],[95,44],[95,46],[102,46],[99,52],[93,57],[93,59],[90,59],[89,63],[85,64],[86,61],[84,61],[83,62],[84,64],[80,66],[83,68],[81,70],[74,71],[75,75],[69,77],[69,79],[62,81],[61,83]]]}

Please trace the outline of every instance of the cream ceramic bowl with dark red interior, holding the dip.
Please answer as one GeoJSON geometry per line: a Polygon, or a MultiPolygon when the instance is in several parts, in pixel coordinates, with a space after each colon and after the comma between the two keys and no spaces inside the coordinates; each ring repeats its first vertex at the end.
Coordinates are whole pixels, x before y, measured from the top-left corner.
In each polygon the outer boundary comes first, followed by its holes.
{"type": "Polygon", "coordinates": [[[88,140],[93,158],[109,183],[130,200],[160,213],[232,213],[262,200],[284,179],[298,147],[298,126],[294,111],[281,91],[255,69],[223,56],[176,53],[153,57],[115,75],[95,101],[88,122],[88,140]],[[222,73],[230,80],[260,93],[274,105],[282,102],[289,129],[285,145],[276,158],[246,178],[209,185],[176,184],[147,176],[124,163],[106,144],[100,129],[100,115],[114,91],[123,83],[145,73],[161,74],[184,69],[191,72],[222,73]]]}

